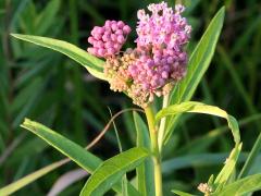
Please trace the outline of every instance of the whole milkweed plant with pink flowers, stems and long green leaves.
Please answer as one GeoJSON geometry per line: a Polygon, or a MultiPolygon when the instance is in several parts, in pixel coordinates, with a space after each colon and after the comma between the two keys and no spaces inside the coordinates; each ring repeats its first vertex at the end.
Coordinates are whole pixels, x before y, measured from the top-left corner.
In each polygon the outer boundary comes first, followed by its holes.
{"type": "Polygon", "coordinates": [[[145,112],[147,123],[134,111],[137,146],[101,160],[89,148],[85,149],[47,126],[26,119],[22,127],[46,140],[69,159],[1,188],[0,195],[10,195],[72,160],[90,173],[80,192],[82,196],[103,195],[110,189],[113,195],[115,192],[115,195],[162,196],[173,192],[189,196],[175,187],[167,193],[163,193],[162,188],[162,152],[182,114],[186,112],[225,119],[235,144],[221,171],[206,179],[195,193],[228,196],[258,189],[260,183],[257,182],[261,180],[259,174],[244,176],[254,152],[248,157],[239,175],[235,173],[241,150],[236,119],[215,106],[190,101],[213,57],[223,26],[224,8],[212,19],[191,54],[187,52],[191,26],[184,17],[184,5],[176,4],[173,9],[166,2],[152,3],[147,10],[139,10],[134,48],[124,49],[128,35],[134,30],[123,21],[105,21],[103,26],[94,27],[87,51],[58,39],[12,34],[15,38],[57,50],[85,66],[95,77],[107,81],[112,90],[124,93],[134,105],[141,108],[137,111],[145,112]],[[162,107],[158,107],[159,100],[162,107]],[[126,173],[133,170],[136,170],[135,175],[127,177],[126,173]],[[24,185],[21,186],[21,183],[24,185]],[[248,185],[241,186],[245,183],[248,185]]]}

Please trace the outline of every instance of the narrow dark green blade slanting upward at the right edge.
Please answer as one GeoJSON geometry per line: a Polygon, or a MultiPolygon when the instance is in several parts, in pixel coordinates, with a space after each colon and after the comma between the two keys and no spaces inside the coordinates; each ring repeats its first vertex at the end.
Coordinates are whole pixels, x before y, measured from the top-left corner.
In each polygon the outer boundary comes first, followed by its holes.
{"type": "Polygon", "coordinates": [[[254,145],[253,145],[253,147],[252,147],[252,149],[251,149],[251,151],[250,151],[250,154],[249,154],[249,156],[248,156],[248,158],[247,158],[247,160],[246,160],[246,162],[245,162],[245,164],[244,164],[244,167],[243,167],[243,169],[241,169],[237,179],[245,177],[248,174],[249,170],[251,169],[251,166],[252,166],[253,161],[256,160],[256,158],[259,154],[260,148],[261,148],[261,133],[259,134],[259,136],[258,136],[258,138],[257,138],[257,140],[256,140],[256,143],[254,143],[254,145]]]}

